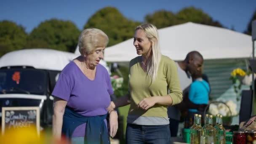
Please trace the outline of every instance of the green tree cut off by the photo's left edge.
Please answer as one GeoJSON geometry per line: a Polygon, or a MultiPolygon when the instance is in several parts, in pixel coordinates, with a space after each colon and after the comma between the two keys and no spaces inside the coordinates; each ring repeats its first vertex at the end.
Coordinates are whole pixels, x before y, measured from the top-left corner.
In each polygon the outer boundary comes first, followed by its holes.
{"type": "Polygon", "coordinates": [[[24,48],[27,34],[24,27],[12,21],[0,21],[0,56],[24,48]]]}

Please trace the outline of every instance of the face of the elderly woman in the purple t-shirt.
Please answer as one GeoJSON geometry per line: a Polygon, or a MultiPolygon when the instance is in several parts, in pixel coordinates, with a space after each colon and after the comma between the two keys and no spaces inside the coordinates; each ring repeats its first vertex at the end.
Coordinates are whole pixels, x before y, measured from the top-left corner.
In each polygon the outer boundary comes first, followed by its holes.
{"type": "Polygon", "coordinates": [[[93,53],[85,55],[86,61],[89,63],[89,65],[96,66],[99,64],[99,61],[103,59],[104,49],[105,48],[96,48],[93,53]]]}

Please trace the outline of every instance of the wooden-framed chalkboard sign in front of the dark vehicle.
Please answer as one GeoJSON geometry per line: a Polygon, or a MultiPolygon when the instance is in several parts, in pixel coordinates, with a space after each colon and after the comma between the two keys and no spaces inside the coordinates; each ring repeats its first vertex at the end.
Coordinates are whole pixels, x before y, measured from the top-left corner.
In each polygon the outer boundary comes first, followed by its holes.
{"type": "Polygon", "coordinates": [[[8,129],[36,126],[40,132],[39,107],[2,107],[2,134],[8,129]]]}

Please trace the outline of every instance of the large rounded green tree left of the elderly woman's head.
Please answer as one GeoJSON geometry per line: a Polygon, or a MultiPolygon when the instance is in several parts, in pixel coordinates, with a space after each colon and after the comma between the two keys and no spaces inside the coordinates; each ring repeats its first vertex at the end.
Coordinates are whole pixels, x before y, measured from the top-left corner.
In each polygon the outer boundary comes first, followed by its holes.
{"type": "Polygon", "coordinates": [[[51,19],[32,30],[27,47],[74,52],[79,35],[79,29],[71,21],[51,19]]]}

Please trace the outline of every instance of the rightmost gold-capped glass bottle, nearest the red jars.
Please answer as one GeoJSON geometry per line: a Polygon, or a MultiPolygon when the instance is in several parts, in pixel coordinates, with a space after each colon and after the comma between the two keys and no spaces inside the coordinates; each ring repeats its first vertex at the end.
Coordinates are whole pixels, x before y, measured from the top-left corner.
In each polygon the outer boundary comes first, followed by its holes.
{"type": "Polygon", "coordinates": [[[219,115],[219,126],[216,128],[216,144],[226,144],[226,130],[222,125],[222,115],[219,115]]]}

